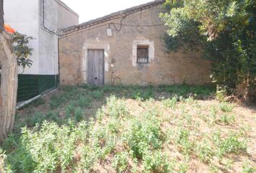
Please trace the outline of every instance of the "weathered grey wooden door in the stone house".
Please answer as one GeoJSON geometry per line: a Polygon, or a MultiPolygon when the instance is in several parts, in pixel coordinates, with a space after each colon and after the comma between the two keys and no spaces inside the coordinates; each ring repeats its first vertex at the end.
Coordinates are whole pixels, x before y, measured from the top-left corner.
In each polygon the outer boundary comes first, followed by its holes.
{"type": "Polygon", "coordinates": [[[104,84],[104,50],[88,50],[88,84],[104,84]]]}

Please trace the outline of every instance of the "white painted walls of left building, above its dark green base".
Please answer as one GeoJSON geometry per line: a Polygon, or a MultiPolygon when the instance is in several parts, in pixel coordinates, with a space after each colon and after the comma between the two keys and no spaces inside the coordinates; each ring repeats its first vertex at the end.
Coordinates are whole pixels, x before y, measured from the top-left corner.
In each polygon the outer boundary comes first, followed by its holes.
{"type": "MultiPolygon", "coordinates": [[[[33,66],[26,68],[23,74],[59,74],[58,36],[43,29],[42,5],[41,0],[4,1],[5,23],[17,32],[36,38],[29,45],[34,49],[33,56],[30,57],[33,66]]],[[[57,32],[59,27],[77,25],[78,15],[68,9],[59,0],[45,0],[45,26],[57,32]]]]}

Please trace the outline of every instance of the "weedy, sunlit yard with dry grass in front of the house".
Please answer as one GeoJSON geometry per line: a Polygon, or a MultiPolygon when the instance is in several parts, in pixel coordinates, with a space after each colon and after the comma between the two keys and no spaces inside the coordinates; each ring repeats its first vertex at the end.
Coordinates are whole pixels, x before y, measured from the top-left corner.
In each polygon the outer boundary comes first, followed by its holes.
{"type": "Polygon", "coordinates": [[[256,113],[207,86],[63,86],[17,111],[0,172],[256,171],[256,113]]]}

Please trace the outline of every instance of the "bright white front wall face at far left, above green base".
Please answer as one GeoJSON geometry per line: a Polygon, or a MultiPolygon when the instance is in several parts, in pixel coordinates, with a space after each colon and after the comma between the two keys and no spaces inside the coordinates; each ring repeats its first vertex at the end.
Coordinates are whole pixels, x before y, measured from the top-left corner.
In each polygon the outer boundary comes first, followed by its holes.
{"type": "MultiPolygon", "coordinates": [[[[7,0],[4,1],[4,22],[11,25],[17,32],[35,37],[30,41],[30,48],[33,48],[33,61],[31,68],[25,68],[23,74],[39,73],[39,1],[36,0],[7,0]]],[[[20,68],[21,72],[22,69],[20,68]]]]}

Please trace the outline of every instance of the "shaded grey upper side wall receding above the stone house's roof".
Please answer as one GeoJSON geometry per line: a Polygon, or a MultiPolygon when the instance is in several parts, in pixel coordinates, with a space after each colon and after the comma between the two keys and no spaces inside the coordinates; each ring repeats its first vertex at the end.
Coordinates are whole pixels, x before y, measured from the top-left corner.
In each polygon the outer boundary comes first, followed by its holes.
{"type": "Polygon", "coordinates": [[[55,1],[58,4],[58,30],[77,25],[79,23],[79,15],[63,2],[55,1]]]}

